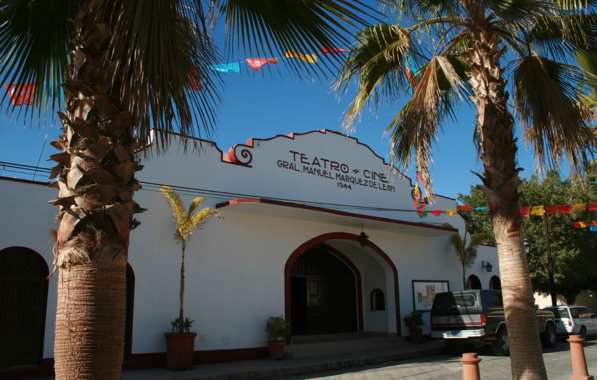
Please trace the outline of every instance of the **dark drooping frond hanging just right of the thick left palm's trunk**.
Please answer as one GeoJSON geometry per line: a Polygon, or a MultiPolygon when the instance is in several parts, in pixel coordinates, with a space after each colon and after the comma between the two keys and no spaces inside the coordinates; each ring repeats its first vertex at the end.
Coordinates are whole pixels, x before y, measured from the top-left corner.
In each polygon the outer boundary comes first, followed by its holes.
{"type": "Polygon", "coordinates": [[[158,148],[168,144],[167,132],[209,136],[216,123],[221,79],[207,67],[220,57],[205,29],[201,2],[196,3],[195,8],[181,7],[178,0],[144,7],[127,0],[105,4],[114,27],[109,59],[125,73],[119,95],[130,99],[136,136],[145,141],[155,129],[158,148]],[[189,87],[190,77],[201,81],[201,91],[189,87]]]}

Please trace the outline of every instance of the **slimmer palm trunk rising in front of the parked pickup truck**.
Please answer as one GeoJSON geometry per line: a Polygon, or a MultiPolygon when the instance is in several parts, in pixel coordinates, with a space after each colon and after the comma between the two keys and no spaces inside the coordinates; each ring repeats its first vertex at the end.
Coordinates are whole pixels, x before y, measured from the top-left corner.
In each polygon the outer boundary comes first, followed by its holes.
{"type": "Polygon", "coordinates": [[[479,31],[467,54],[477,105],[477,133],[485,169],[479,186],[487,195],[496,235],[513,379],[547,379],[538,335],[533,288],[522,250],[514,121],[507,109],[500,67],[500,40],[479,31]]]}

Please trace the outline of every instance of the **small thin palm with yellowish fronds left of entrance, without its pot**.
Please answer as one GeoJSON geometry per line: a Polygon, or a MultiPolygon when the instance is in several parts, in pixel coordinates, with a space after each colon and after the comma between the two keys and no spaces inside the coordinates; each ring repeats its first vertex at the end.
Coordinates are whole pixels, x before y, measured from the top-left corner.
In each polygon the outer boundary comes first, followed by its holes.
{"type": "Polygon", "coordinates": [[[204,207],[197,210],[202,203],[205,202],[204,197],[194,198],[190,205],[189,210],[185,210],[183,200],[180,195],[174,191],[173,188],[166,185],[160,185],[159,191],[162,192],[164,198],[170,205],[172,211],[172,219],[174,220],[174,226],[176,226],[176,232],[174,232],[174,240],[180,243],[182,248],[182,260],[180,264],[180,312],[178,318],[179,334],[184,332],[184,250],[189,242],[190,236],[193,235],[197,229],[201,228],[211,217],[219,217],[223,219],[217,210],[211,207],[204,207]]]}

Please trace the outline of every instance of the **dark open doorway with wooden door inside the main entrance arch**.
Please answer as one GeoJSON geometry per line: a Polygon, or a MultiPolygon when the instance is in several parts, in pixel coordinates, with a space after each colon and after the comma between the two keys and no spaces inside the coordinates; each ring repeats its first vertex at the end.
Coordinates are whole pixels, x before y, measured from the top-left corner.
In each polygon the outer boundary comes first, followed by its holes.
{"type": "Polygon", "coordinates": [[[290,299],[293,335],[358,331],[355,273],[325,248],[294,261],[290,299]]]}

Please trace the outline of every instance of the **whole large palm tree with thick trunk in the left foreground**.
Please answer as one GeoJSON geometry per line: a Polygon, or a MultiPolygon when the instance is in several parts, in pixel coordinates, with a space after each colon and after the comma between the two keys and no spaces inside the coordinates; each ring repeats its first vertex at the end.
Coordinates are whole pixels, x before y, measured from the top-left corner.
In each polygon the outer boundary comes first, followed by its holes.
{"type": "MultiPolygon", "coordinates": [[[[167,147],[168,132],[213,130],[222,85],[208,69],[220,59],[216,21],[226,23],[230,54],[239,46],[272,57],[346,45],[346,28],[367,24],[368,11],[357,0],[0,2],[3,83],[35,83],[35,104],[24,113],[32,124],[48,108],[64,108],[64,135],[51,143],[60,152],[50,157],[59,189],[51,203],[60,206],[57,379],[120,378],[129,236],[143,211],[133,200],[141,189],[136,154],[152,128],[146,153],[167,147]]],[[[286,62],[296,74],[322,76],[339,60],[286,62]]]]}

